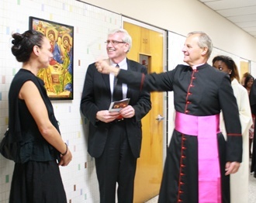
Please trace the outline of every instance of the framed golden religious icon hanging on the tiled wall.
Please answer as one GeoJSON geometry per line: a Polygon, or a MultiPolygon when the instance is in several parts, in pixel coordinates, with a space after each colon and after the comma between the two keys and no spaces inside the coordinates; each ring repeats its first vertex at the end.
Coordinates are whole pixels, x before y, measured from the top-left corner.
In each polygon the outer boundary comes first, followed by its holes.
{"type": "Polygon", "coordinates": [[[49,67],[37,74],[44,81],[51,100],[73,99],[74,26],[29,17],[29,29],[43,33],[50,40],[53,58],[49,67]]]}

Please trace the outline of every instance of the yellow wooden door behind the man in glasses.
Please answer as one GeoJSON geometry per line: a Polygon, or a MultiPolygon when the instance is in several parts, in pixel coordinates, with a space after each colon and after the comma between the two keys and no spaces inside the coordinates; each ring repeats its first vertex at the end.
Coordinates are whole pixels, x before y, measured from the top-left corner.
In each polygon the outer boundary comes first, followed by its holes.
{"type": "MultiPolygon", "coordinates": [[[[144,64],[148,73],[162,72],[164,67],[164,35],[152,29],[123,22],[133,44],[127,57],[144,64]]],[[[134,201],[141,203],[159,194],[163,171],[163,93],[151,93],[152,108],[142,120],[142,147],[137,160],[134,201]],[[157,120],[160,118],[160,121],[157,120]]]]}

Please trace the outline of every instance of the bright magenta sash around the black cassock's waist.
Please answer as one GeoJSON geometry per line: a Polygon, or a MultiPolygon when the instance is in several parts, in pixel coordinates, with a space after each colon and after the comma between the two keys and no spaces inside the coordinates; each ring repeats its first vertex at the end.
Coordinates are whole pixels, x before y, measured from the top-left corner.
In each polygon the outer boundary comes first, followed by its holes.
{"type": "Polygon", "coordinates": [[[198,136],[199,203],[221,203],[220,160],[216,134],[220,115],[195,116],[176,112],[175,129],[198,136]]]}

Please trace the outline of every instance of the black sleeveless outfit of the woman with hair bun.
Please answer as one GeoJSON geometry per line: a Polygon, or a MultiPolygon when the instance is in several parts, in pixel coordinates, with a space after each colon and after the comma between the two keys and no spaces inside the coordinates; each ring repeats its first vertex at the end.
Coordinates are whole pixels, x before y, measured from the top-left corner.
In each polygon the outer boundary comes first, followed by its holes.
{"type": "Polygon", "coordinates": [[[47,107],[49,119],[59,131],[43,81],[30,71],[19,70],[9,90],[9,130],[15,135],[12,139],[21,143],[19,158],[12,175],[9,202],[66,203],[67,198],[57,164],[60,153],[43,139],[26,103],[18,98],[19,90],[26,81],[36,84],[47,107]]]}

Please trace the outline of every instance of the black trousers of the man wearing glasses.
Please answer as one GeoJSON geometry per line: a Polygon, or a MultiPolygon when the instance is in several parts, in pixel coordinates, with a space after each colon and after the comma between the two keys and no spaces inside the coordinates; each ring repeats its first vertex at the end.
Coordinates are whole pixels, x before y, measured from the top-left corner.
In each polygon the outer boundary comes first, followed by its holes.
{"type": "Polygon", "coordinates": [[[116,183],[118,202],[133,202],[136,165],[137,158],[130,150],[125,123],[112,123],[105,150],[101,157],[95,158],[101,203],[116,202],[116,183]]]}

